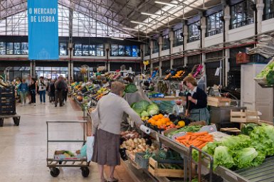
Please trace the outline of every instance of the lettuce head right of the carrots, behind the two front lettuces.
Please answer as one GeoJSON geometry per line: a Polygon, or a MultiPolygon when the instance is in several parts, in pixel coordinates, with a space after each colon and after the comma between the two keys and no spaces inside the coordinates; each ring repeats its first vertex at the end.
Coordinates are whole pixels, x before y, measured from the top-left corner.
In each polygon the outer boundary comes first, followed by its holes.
{"type": "Polygon", "coordinates": [[[222,145],[231,150],[239,150],[250,146],[251,138],[244,134],[230,136],[223,140],[222,145]]]}

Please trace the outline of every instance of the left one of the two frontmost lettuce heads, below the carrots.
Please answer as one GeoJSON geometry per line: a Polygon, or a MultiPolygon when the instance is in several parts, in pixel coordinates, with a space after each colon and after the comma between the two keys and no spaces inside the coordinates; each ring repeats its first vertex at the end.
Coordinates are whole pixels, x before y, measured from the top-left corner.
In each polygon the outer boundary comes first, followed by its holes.
{"type": "Polygon", "coordinates": [[[226,146],[217,146],[214,151],[214,169],[217,166],[224,166],[226,168],[232,168],[235,166],[232,155],[228,151],[226,146]]]}

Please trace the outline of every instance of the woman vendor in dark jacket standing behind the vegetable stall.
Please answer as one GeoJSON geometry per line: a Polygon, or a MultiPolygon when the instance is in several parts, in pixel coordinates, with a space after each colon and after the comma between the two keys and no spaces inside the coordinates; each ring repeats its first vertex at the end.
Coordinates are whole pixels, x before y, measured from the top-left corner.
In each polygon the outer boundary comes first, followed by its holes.
{"type": "Polygon", "coordinates": [[[197,87],[198,85],[194,77],[185,77],[184,83],[189,89],[189,94],[186,97],[186,116],[189,116],[194,121],[206,121],[209,124],[209,110],[206,108],[206,92],[197,87]]]}

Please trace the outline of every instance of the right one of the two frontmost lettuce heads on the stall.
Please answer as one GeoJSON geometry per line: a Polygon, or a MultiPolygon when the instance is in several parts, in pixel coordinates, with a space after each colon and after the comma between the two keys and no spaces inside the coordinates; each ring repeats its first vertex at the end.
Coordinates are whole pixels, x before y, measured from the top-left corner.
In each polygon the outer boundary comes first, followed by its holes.
{"type": "Polygon", "coordinates": [[[254,148],[244,148],[235,152],[234,161],[238,168],[248,168],[253,166],[253,160],[258,156],[258,151],[254,148]]]}

